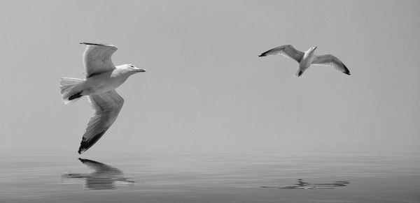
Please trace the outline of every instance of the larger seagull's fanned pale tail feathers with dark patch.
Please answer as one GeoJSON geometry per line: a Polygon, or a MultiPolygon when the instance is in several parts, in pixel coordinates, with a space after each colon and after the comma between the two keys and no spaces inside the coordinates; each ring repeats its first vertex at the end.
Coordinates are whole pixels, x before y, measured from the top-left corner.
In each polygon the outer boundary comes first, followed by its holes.
{"type": "Polygon", "coordinates": [[[74,89],[74,87],[76,87],[76,85],[80,82],[83,82],[83,80],[71,77],[61,78],[59,81],[59,89],[61,89],[64,104],[68,105],[74,103],[76,100],[83,96],[81,95],[81,92],[75,92],[74,89]]]}

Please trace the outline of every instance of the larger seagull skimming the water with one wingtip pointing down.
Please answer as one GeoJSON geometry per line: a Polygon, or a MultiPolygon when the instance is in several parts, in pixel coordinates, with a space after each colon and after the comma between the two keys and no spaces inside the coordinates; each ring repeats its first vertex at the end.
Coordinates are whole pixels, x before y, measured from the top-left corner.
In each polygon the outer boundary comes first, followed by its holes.
{"type": "Polygon", "coordinates": [[[123,107],[124,99],[118,95],[116,88],[134,73],[146,72],[132,64],[114,66],[111,56],[116,52],[114,45],[80,43],[87,45],[83,53],[85,80],[62,77],[60,86],[63,103],[68,105],[82,96],[87,96],[94,115],[87,123],[85,134],[80,142],[78,153],[83,153],[104,135],[116,121],[123,107]]]}

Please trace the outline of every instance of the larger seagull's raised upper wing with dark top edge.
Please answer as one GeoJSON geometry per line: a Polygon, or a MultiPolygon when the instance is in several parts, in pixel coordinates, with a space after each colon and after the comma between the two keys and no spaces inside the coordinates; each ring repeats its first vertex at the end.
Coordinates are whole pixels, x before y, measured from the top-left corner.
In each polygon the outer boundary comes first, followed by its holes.
{"type": "Polygon", "coordinates": [[[116,66],[111,61],[111,56],[116,52],[114,45],[103,45],[94,43],[80,43],[87,45],[83,53],[83,64],[85,65],[86,78],[113,70],[116,66]]]}

